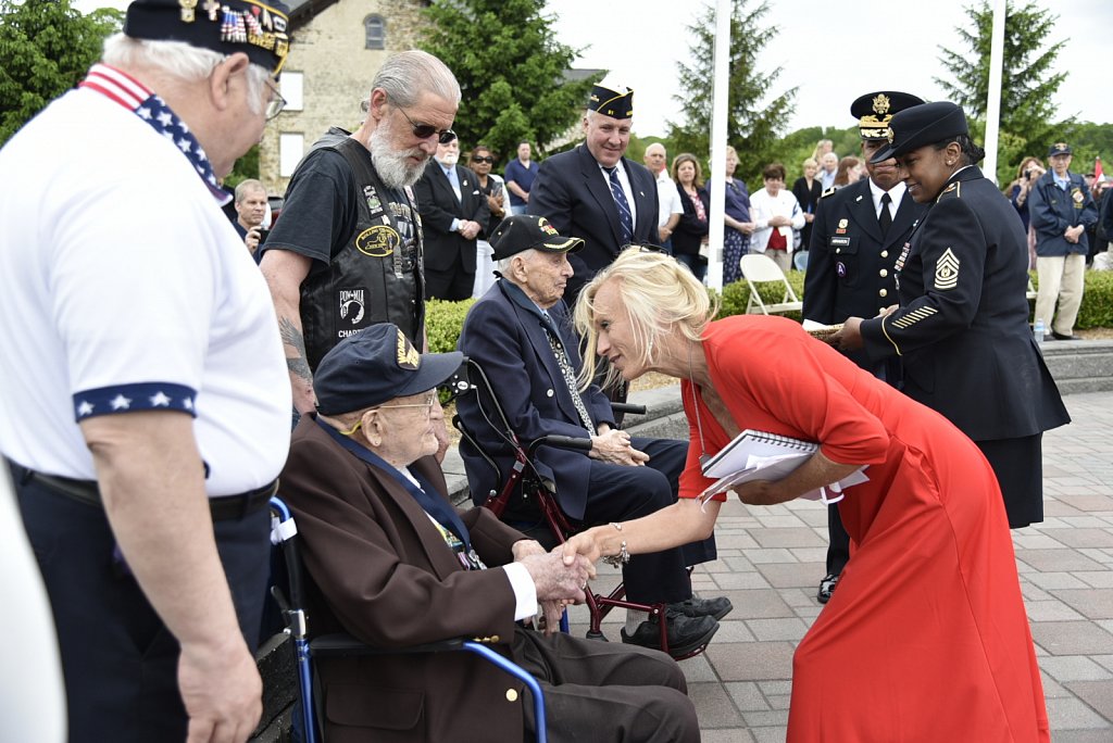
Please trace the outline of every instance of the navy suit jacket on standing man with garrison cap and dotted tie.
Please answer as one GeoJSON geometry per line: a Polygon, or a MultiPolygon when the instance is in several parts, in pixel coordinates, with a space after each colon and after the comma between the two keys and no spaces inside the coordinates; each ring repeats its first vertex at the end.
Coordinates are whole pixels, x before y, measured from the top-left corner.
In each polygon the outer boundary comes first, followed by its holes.
{"type": "MultiPolygon", "coordinates": [[[[619,160],[618,167],[626,170],[633,191],[637,215],[631,242],[658,242],[657,179],[644,166],[628,158],[619,160]]],[[[525,210],[545,217],[565,237],[583,238],[583,249],[568,256],[575,271],[564,291],[564,299],[571,305],[583,285],[599,269],[610,266],[622,249],[622,225],[614,197],[587,146],[580,145],[541,164],[525,210]]]]}

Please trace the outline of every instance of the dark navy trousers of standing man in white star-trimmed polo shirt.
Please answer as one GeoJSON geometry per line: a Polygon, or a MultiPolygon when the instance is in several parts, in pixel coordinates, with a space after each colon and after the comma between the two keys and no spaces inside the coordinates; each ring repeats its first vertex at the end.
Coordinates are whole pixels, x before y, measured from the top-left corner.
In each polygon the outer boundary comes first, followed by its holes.
{"type": "MultiPolygon", "coordinates": [[[[19,507],[50,596],[69,713],[70,743],[184,741],[178,642],[127,566],[105,512],[38,483],[21,483],[19,507]]],[[[217,548],[254,651],[267,584],[269,517],[215,524],[217,548]]]]}

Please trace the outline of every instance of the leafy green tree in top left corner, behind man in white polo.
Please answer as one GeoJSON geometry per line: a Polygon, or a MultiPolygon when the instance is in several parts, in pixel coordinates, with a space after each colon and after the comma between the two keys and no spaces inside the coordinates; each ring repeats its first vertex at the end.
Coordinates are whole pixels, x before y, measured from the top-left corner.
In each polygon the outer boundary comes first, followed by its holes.
{"type": "Polygon", "coordinates": [[[70,0],[0,0],[0,143],[85,77],[124,13],[70,0]]]}

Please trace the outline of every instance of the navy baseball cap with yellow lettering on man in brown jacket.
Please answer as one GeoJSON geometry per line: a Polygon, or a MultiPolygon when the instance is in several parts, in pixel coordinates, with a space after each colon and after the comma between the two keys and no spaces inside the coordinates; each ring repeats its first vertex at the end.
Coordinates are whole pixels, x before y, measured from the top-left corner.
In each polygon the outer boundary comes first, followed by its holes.
{"type": "Polygon", "coordinates": [[[336,344],[313,375],[317,412],[341,415],[416,395],[451,377],[464,355],[418,354],[396,325],[372,325],[336,344]]]}

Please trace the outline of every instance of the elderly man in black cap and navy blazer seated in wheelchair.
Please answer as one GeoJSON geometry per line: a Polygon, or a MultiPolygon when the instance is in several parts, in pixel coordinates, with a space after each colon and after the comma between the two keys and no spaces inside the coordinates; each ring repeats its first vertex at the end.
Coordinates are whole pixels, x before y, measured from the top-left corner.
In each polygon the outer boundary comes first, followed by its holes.
{"type": "MultiPolygon", "coordinates": [[[[590,439],[590,452],[542,447],[532,462],[554,484],[569,519],[621,528],[623,521],[676,502],[688,444],[631,438],[614,426],[611,403],[597,386],[578,388],[581,360],[563,294],[572,275],[568,254],[583,240],[560,236],[544,217],[518,215],[499,225],[491,245],[500,280],[472,307],[460,336],[460,350],[483,369],[498,398],[480,389],[456,403],[471,436],[460,452],[475,503],[498,489],[501,475],[515,462],[513,447],[490,423],[495,406],[523,443],[550,435],[590,439]]],[[[502,517],[515,524],[539,521],[535,505],[525,498],[511,504],[502,517]]],[[[715,556],[712,536],[683,548],[638,555],[622,567],[629,602],[666,605],[667,650],[673,657],[702,650],[718,620],[732,608],[725,597],[692,595],[688,567],[715,556]]],[[[628,608],[622,641],[662,647],[659,616],[628,608]]]]}

